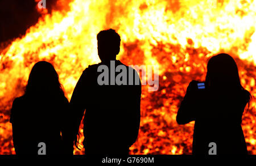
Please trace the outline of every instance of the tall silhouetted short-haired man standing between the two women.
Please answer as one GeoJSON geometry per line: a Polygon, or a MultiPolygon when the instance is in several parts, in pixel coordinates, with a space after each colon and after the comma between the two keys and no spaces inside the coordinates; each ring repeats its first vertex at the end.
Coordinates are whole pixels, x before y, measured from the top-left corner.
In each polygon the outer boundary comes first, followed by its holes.
{"type": "MultiPolygon", "coordinates": [[[[71,107],[75,116],[75,130],[78,134],[79,124],[84,115],[83,142],[85,154],[129,154],[129,147],[136,141],[141,118],[141,82],[137,72],[116,60],[119,53],[120,36],[113,29],[101,31],[97,35],[98,56],[101,63],[86,68],[71,97],[71,107]],[[135,85],[110,85],[110,64],[114,67],[125,66],[133,71],[135,85]],[[109,69],[109,85],[99,85],[97,72],[99,66],[109,69]]],[[[120,72],[115,72],[117,76],[120,72]]],[[[128,72],[127,82],[129,82],[128,72]]],[[[108,78],[104,78],[108,79],[108,78]]],[[[122,78],[124,79],[124,78],[122,78]]],[[[77,143],[77,140],[75,139],[77,143]]]]}

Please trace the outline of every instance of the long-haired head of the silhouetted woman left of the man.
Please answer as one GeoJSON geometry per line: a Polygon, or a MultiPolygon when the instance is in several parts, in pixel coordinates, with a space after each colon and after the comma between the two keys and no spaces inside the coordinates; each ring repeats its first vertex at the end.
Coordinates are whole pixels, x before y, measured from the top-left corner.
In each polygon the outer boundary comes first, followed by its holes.
{"type": "Polygon", "coordinates": [[[24,95],[47,97],[48,99],[64,96],[59,75],[51,63],[46,61],[35,63],[30,72],[24,95]]]}

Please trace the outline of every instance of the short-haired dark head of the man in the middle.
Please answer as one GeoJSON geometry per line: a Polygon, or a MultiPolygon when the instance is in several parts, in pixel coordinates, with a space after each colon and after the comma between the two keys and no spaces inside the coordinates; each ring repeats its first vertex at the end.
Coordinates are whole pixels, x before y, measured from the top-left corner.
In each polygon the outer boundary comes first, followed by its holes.
{"type": "Polygon", "coordinates": [[[114,29],[101,31],[97,35],[98,56],[101,61],[115,60],[120,51],[120,36],[114,29]]]}

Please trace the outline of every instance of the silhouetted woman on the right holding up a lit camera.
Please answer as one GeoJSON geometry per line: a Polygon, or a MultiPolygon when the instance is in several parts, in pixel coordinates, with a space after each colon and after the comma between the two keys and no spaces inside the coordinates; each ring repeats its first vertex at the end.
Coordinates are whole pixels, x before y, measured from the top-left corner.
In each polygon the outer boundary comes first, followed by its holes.
{"type": "Polygon", "coordinates": [[[177,112],[177,123],[195,121],[193,154],[208,155],[209,143],[216,143],[217,155],[247,154],[241,127],[243,110],[251,95],[240,83],[234,59],[228,54],[210,58],[205,89],[189,83],[177,112]]]}

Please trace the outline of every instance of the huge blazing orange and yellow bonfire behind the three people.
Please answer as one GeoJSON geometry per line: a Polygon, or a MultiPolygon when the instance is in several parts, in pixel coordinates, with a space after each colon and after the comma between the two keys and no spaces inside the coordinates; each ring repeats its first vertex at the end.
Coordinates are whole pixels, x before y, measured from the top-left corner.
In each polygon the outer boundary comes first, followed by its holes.
{"type": "MultiPolygon", "coordinates": [[[[75,0],[69,7],[44,15],[25,36],[1,48],[0,154],[15,154],[10,108],[34,63],[51,62],[70,99],[82,71],[100,62],[96,35],[102,29],[116,29],[121,36],[118,58],[123,63],[158,65],[160,70],[159,90],[143,87],[141,128],[130,154],[191,154],[193,122],[177,125],[177,108],[188,83],[204,79],[213,54],[231,54],[242,85],[256,96],[253,0],[75,0]]],[[[255,114],[253,101],[242,122],[250,154],[256,154],[255,114]]]]}

